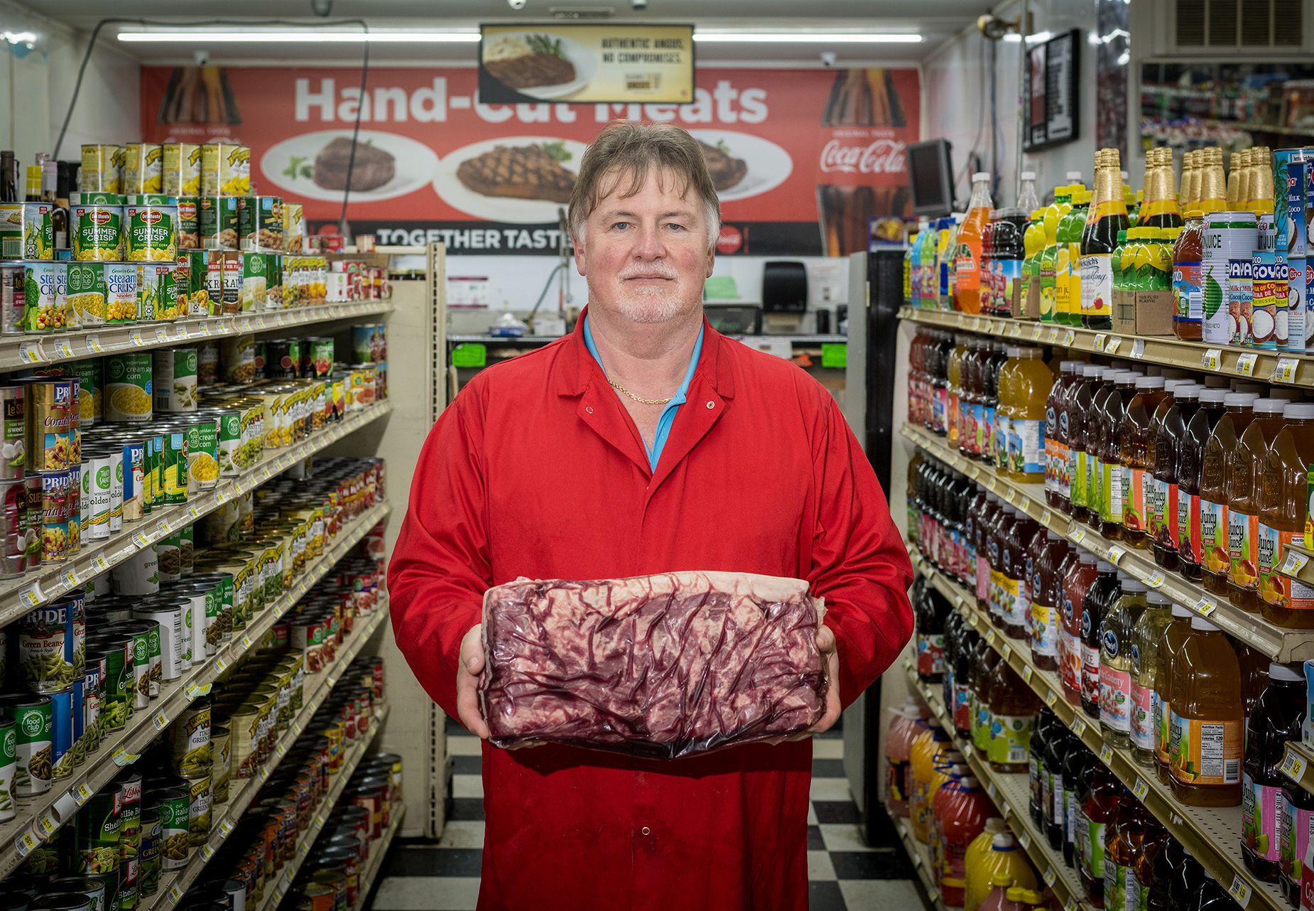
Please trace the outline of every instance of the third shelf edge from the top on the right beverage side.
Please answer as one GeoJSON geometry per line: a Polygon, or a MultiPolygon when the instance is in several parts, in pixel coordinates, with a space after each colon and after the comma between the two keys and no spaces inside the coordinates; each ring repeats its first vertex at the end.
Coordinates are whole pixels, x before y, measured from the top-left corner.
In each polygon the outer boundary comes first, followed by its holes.
{"type": "MultiPolygon", "coordinates": [[[[1255,878],[1242,860],[1242,811],[1235,807],[1193,807],[1177,801],[1171,786],[1159,781],[1154,769],[1137,762],[1131,751],[1104,741],[1100,723],[1085,715],[1080,706],[1071,705],[1063,695],[1063,686],[1051,670],[1042,670],[1031,660],[1028,643],[1012,640],[996,630],[989,614],[976,606],[976,598],[957,580],[933,567],[922,553],[915,552],[917,572],[943,594],[980,632],[986,642],[1008,661],[1009,666],[1026,681],[1045,701],[1059,720],[1072,731],[1091,752],[1100,757],[1137,799],[1176,837],[1187,852],[1227,887],[1243,908],[1288,911],[1282,893],[1276,883],[1255,878]]],[[[950,728],[951,730],[951,728],[950,728]]],[[[970,747],[970,744],[968,744],[970,747]]]]}

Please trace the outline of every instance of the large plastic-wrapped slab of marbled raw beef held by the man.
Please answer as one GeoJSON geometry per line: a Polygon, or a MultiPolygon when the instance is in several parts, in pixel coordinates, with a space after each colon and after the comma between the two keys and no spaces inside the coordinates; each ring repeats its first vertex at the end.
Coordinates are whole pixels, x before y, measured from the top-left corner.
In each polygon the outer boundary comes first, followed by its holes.
{"type": "Polygon", "coordinates": [[[681,572],[518,580],[484,598],[493,743],[674,759],[815,724],[821,602],[796,578],[681,572]]]}

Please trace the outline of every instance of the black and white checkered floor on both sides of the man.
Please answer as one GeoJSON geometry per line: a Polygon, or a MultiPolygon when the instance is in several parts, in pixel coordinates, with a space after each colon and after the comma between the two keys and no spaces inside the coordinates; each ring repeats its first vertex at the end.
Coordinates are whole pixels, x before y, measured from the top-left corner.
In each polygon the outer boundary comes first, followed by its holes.
{"type": "MultiPolygon", "coordinates": [[[[398,839],[385,861],[373,911],[473,911],[484,848],[480,741],[448,722],[453,757],[451,818],[443,840],[398,839]]],[[[844,740],[829,731],[813,741],[808,812],[809,911],[921,908],[901,847],[869,848],[844,777],[844,740]]]]}

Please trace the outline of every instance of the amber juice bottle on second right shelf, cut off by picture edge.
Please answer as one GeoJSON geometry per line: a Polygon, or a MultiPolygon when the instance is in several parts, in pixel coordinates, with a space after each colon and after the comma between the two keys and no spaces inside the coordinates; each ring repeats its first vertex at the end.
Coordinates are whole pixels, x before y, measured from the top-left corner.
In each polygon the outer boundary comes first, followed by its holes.
{"type": "MultiPolygon", "coordinates": [[[[1264,619],[1288,628],[1314,628],[1314,589],[1273,569],[1286,546],[1306,543],[1310,465],[1314,465],[1314,405],[1282,409],[1286,426],[1273,438],[1259,489],[1259,594],[1264,619]]],[[[1303,854],[1301,854],[1303,857],[1303,854]]]]}

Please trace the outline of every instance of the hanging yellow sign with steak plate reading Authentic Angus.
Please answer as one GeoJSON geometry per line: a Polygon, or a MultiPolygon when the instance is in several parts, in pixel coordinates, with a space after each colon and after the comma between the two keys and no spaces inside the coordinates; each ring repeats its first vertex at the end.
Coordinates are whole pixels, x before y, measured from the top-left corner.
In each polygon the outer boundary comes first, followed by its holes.
{"type": "Polygon", "coordinates": [[[485,25],[480,101],[690,104],[692,25],[485,25]]]}

